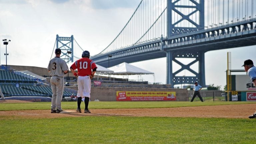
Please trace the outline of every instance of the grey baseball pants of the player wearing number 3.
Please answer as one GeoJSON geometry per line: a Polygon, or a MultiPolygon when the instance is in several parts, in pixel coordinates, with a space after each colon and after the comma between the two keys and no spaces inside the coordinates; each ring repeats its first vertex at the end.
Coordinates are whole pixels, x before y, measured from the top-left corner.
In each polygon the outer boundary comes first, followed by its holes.
{"type": "Polygon", "coordinates": [[[61,108],[61,99],[64,92],[64,78],[58,76],[51,77],[51,86],[52,86],[52,104],[51,109],[53,110],[62,110],[61,108]]]}

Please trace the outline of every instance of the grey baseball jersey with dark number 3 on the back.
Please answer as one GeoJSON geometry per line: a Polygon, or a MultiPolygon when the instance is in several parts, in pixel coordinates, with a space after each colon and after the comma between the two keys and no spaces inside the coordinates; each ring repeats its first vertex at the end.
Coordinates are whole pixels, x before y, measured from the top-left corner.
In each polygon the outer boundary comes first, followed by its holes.
{"type": "Polygon", "coordinates": [[[49,61],[47,70],[50,71],[50,76],[64,77],[63,71],[68,70],[66,62],[60,57],[54,57],[49,61]]]}

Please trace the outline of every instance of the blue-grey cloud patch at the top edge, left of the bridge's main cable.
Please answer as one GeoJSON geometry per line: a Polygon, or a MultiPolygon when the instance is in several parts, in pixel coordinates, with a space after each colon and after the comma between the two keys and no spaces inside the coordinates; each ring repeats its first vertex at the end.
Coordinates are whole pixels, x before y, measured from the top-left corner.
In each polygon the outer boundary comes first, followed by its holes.
{"type": "Polygon", "coordinates": [[[94,9],[134,8],[140,0],[92,0],[94,9]]]}

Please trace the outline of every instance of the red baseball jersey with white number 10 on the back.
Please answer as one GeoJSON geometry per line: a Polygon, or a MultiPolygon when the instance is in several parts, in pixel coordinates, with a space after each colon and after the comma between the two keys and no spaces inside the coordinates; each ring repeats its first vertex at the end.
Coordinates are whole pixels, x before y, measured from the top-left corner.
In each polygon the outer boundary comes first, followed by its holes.
{"type": "Polygon", "coordinates": [[[94,61],[90,60],[87,57],[80,58],[79,60],[75,61],[71,67],[73,70],[78,70],[79,76],[87,76],[92,74],[92,70],[97,68],[94,61]]]}

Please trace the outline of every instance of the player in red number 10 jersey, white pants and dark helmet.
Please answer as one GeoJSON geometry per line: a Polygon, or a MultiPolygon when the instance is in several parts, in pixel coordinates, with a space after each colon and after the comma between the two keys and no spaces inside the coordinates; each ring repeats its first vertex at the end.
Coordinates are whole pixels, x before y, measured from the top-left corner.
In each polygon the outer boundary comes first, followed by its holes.
{"type": "Polygon", "coordinates": [[[78,91],[77,91],[77,112],[81,113],[81,102],[82,97],[84,97],[85,109],[84,113],[91,113],[88,109],[90,93],[91,93],[91,79],[93,78],[97,66],[94,61],[90,60],[90,52],[84,51],[82,53],[82,58],[75,61],[71,67],[70,71],[77,77],[78,91]],[[78,73],[75,70],[78,70],[78,73]]]}

